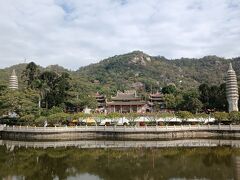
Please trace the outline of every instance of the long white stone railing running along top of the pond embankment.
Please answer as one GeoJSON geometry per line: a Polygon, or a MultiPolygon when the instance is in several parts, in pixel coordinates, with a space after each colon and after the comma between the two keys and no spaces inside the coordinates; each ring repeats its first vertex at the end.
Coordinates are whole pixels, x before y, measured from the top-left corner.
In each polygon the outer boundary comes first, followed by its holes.
{"type": "Polygon", "coordinates": [[[66,126],[66,127],[32,127],[5,126],[4,132],[177,132],[177,131],[240,131],[240,125],[178,125],[178,126],[66,126]]]}

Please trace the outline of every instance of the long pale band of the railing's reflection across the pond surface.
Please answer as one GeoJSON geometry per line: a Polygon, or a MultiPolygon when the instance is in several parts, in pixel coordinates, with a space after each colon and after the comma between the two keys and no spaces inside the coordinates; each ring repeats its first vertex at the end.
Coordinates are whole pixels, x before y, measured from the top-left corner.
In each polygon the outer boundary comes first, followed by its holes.
{"type": "Polygon", "coordinates": [[[76,147],[91,148],[163,148],[163,147],[216,147],[230,146],[240,148],[240,140],[227,139],[179,139],[161,141],[121,141],[121,140],[79,140],[79,141],[14,141],[0,140],[0,145],[13,151],[16,147],[25,148],[57,148],[76,147]]]}

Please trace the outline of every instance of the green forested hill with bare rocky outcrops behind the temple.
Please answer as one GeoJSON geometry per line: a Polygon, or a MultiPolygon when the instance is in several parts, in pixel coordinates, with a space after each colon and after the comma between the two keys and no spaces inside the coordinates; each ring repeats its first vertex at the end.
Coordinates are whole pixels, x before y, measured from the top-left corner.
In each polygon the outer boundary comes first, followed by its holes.
{"type": "MultiPolygon", "coordinates": [[[[240,57],[224,59],[205,56],[200,59],[169,60],[161,56],[149,56],[140,51],[110,57],[99,63],[81,67],[77,71],[68,71],[57,65],[45,69],[58,73],[68,72],[74,87],[82,90],[86,88],[87,91],[106,92],[135,88],[151,91],[169,83],[183,88],[196,87],[201,83],[210,85],[223,83],[230,61],[240,77],[240,57]]],[[[25,67],[26,64],[19,64],[1,69],[0,83],[8,82],[13,68],[20,75],[25,67]]],[[[45,69],[41,67],[41,70],[45,69]]]]}

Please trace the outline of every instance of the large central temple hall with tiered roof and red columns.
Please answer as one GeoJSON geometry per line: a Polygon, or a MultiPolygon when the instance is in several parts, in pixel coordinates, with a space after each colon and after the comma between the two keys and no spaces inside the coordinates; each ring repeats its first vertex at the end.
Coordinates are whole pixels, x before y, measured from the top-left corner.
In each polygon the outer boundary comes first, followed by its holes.
{"type": "Polygon", "coordinates": [[[117,92],[117,95],[111,97],[111,102],[107,102],[107,112],[145,113],[146,102],[137,96],[136,91],[117,92]]]}

